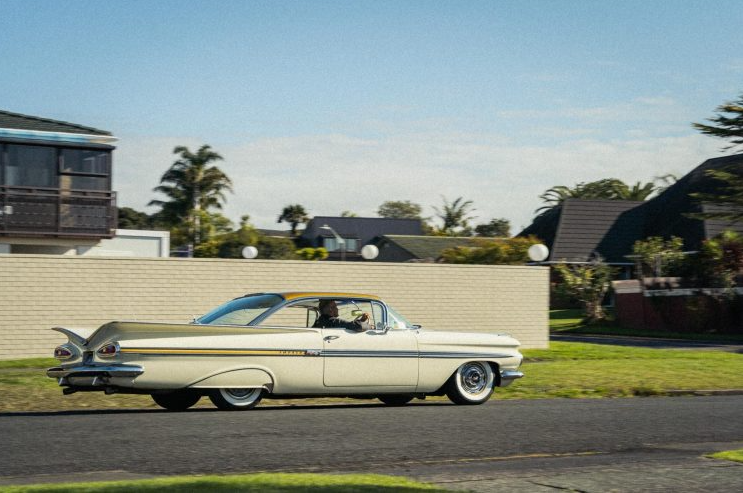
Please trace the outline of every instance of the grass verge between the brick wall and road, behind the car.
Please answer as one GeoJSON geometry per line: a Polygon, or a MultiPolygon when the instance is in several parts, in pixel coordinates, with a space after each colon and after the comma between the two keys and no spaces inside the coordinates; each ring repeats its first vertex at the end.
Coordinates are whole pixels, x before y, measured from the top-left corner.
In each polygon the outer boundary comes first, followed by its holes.
{"type": "MultiPolygon", "coordinates": [[[[497,399],[555,397],[631,397],[670,395],[674,391],[743,389],[743,355],[722,351],[632,348],[604,344],[552,342],[550,349],[527,349],[521,369],[525,377],[497,389],[497,399]]],[[[45,369],[54,360],[5,362],[0,369],[0,411],[59,411],[71,409],[153,408],[146,395],[104,395],[79,392],[63,396],[45,369]]],[[[434,398],[434,400],[443,398],[434,398]]],[[[343,399],[276,401],[324,404],[343,399]]],[[[415,401],[414,401],[415,402],[415,401]]],[[[212,407],[202,399],[197,407],[212,407]]]]}

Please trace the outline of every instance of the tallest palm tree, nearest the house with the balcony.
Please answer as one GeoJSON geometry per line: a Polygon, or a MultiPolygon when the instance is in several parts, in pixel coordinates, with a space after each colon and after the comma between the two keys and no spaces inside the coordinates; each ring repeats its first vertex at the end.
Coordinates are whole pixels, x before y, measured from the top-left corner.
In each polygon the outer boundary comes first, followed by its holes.
{"type": "Polygon", "coordinates": [[[171,226],[187,221],[193,247],[201,240],[202,214],[211,208],[222,208],[222,202],[226,201],[225,191],[232,192],[232,181],[222,170],[211,165],[222,160],[211,146],[203,145],[196,153],[188,147],[177,146],[173,154],[179,154],[180,158],[160,178],[160,185],[154,188],[155,192],[170,200],[152,200],[149,205],[160,206],[160,217],[171,226]]]}

